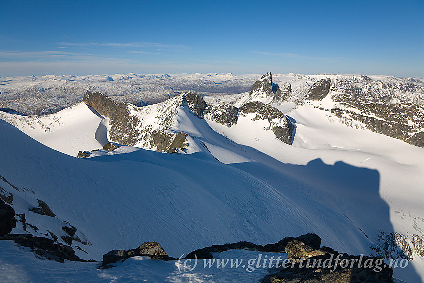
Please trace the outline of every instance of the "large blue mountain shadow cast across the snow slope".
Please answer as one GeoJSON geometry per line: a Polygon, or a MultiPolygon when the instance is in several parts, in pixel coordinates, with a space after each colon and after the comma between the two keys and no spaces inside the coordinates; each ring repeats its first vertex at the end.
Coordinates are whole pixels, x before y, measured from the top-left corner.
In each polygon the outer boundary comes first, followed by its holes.
{"type": "Polygon", "coordinates": [[[172,155],[142,149],[77,159],[2,120],[0,128],[1,175],[35,191],[57,217],[82,231],[92,244],[87,247],[90,257],[97,259],[145,241],[159,241],[170,255],[180,256],[211,244],[266,244],[307,232],[336,250],[359,254],[372,243],[357,226],[393,231],[374,170],[320,160],[306,166],[283,164],[263,154],[279,167],[262,162],[231,166],[203,152],[172,155]],[[358,219],[352,213],[359,213],[358,219]],[[367,215],[370,223],[364,220],[367,215]]]}

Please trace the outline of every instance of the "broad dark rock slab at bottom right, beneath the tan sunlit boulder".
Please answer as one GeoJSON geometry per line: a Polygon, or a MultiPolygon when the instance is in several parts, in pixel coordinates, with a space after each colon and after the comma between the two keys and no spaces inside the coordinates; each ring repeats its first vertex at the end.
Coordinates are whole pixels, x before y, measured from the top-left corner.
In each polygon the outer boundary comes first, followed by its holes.
{"type": "Polygon", "coordinates": [[[265,276],[262,282],[393,283],[392,274],[393,269],[382,259],[348,256],[336,252],[336,254],[316,256],[306,261],[292,263],[288,268],[282,268],[277,273],[265,276]],[[336,260],[337,255],[339,255],[338,260],[336,260]]]}

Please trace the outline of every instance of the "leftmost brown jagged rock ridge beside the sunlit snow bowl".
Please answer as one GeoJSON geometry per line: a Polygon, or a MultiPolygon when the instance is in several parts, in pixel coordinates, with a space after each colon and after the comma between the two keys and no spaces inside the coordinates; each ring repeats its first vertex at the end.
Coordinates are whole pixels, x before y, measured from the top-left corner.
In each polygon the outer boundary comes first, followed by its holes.
{"type": "MultiPolygon", "coordinates": [[[[109,97],[99,92],[87,91],[82,99],[99,114],[109,118],[110,138],[119,144],[133,146],[137,143],[140,131],[139,119],[130,115],[129,104],[113,102],[109,97]]],[[[135,106],[132,106],[135,107],[135,106]]]]}

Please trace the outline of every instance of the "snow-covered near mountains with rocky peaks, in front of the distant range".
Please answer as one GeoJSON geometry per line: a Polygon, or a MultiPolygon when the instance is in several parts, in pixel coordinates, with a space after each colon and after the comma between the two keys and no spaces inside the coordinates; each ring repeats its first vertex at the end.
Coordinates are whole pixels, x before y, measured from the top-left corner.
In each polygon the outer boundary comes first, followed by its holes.
{"type": "Polygon", "coordinates": [[[143,107],[91,91],[54,114],[0,112],[12,233],[99,260],[146,241],[178,257],[313,232],[343,252],[409,259],[394,276],[423,279],[423,80],[267,73],[251,85],[143,107]]]}

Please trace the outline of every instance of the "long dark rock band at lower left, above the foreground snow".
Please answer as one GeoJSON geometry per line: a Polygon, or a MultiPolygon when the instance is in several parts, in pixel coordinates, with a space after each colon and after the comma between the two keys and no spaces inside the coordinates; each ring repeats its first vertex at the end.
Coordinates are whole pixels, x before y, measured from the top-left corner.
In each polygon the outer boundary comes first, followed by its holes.
{"type": "Polygon", "coordinates": [[[54,243],[53,240],[45,237],[35,237],[31,234],[6,234],[1,240],[13,240],[17,244],[31,248],[31,252],[45,257],[49,260],[55,260],[63,263],[64,260],[85,262],[75,255],[72,247],[54,243]]]}

